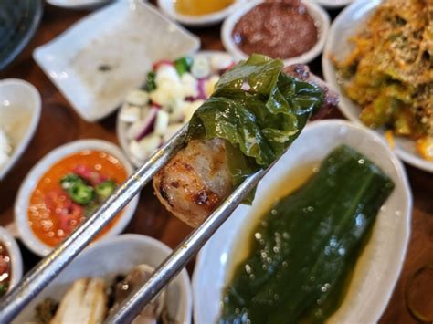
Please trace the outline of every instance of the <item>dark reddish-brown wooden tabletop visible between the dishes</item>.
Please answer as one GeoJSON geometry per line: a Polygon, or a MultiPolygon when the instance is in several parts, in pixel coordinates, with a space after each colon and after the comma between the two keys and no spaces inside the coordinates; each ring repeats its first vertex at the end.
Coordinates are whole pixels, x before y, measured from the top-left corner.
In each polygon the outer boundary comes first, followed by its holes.
{"type": "MultiPolygon", "coordinates": [[[[42,23],[33,41],[13,66],[0,73],[0,79],[23,78],[31,82],[42,96],[42,115],[36,135],[15,168],[0,183],[0,225],[7,225],[13,221],[14,202],[19,185],[31,167],[45,154],[61,144],[78,139],[102,139],[119,144],[115,131],[115,114],[95,123],[81,120],[32,58],[32,52],[36,47],[57,37],[87,14],[86,11],[69,11],[46,5],[42,23]]],[[[330,14],[334,17],[338,11],[332,11],[330,14]]],[[[191,31],[201,38],[202,49],[223,49],[219,37],[220,26],[191,31]]],[[[320,58],[312,62],[311,68],[314,73],[322,75],[320,58]]],[[[343,118],[338,111],[333,111],[330,117],[343,118]]],[[[403,271],[382,316],[383,323],[415,322],[405,306],[404,290],[407,278],[418,267],[433,263],[433,174],[419,171],[409,165],[406,165],[406,169],[414,197],[410,244],[403,271]]],[[[141,193],[140,204],[125,232],[150,235],[174,247],[191,232],[191,229],[164,210],[148,185],[141,193]]],[[[25,269],[28,270],[37,263],[39,257],[29,252],[22,244],[20,247],[25,269]]],[[[194,261],[188,265],[190,274],[193,269],[194,261]]],[[[426,296],[425,302],[428,303],[431,299],[433,296],[426,296]]]]}

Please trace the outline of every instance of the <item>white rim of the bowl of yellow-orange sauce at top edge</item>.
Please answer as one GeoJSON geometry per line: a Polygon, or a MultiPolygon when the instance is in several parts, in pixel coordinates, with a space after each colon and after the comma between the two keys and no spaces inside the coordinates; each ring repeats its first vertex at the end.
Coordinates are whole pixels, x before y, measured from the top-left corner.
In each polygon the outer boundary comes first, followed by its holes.
{"type": "Polygon", "coordinates": [[[224,18],[236,10],[239,5],[246,1],[247,0],[235,0],[232,5],[228,5],[226,8],[220,11],[200,16],[179,14],[174,8],[173,0],[158,0],[158,6],[161,8],[161,11],[164,13],[164,15],[169,16],[170,18],[185,26],[212,26],[221,22],[224,18]]]}

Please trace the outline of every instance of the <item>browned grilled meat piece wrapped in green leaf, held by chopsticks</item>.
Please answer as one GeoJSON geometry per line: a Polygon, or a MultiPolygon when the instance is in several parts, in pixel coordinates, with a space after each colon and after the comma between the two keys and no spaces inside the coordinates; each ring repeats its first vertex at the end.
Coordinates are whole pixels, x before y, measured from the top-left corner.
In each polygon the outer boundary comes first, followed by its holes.
{"type": "Polygon", "coordinates": [[[195,111],[186,147],[153,177],[159,200],[188,225],[201,224],[239,183],[269,167],[313,113],[336,105],[321,85],[304,66],[283,70],[261,55],[229,69],[195,111]]]}

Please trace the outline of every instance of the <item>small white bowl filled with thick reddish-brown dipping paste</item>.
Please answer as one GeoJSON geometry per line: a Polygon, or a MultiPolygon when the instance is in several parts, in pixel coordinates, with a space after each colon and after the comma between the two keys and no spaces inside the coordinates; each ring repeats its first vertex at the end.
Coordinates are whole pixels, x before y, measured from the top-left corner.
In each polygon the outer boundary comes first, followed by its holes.
{"type": "Polygon", "coordinates": [[[319,5],[300,0],[256,0],[227,17],[221,38],[235,58],[259,53],[290,65],[317,57],[329,26],[330,18],[319,5]]]}

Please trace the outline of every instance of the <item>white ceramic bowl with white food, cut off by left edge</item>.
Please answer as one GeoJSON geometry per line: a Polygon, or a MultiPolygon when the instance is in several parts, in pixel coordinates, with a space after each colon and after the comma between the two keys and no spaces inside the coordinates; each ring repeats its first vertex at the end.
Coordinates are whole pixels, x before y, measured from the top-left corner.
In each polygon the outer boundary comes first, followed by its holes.
{"type": "Polygon", "coordinates": [[[0,181],[26,151],[37,130],[40,109],[40,94],[32,84],[17,78],[0,81],[0,128],[13,146],[11,157],[0,168],[0,181]]]}

